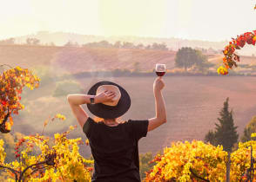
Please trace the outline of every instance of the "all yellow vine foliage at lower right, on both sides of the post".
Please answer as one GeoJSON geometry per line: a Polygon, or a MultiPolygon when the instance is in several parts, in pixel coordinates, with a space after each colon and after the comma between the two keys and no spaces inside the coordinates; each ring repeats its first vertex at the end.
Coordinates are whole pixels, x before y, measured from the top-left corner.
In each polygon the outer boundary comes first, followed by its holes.
{"type": "MultiPolygon", "coordinates": [[[[256,141],[239,143],[239,149],[231,154],[231,181],[246,181],[250,168],[251,152],[256,157],[256,141]]],[[[157,165],[146,174],[145,181],[225,181],[227,152],[222,146],[212,146],[193,140],[172,143],[165,147],[163,155],[157,155],[157,165]]],[[[254,176],[254,179],[256,177],[254,176]]]]}

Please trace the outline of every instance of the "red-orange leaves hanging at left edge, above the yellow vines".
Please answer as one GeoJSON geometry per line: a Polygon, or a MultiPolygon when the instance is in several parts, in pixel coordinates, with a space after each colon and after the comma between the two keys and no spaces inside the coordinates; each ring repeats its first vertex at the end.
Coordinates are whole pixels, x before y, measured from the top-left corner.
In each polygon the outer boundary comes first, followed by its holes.
{"type": "Polygon", "coordinates": [[[10,132],[13,125],[11,114],[18,114],[24,108],[20,103],[24,86],[37,88],[39,81],[37,75],[33,75],[27,68],[10,68],[0,75],[0,132],[10,132]],[[7,114],[9,115],[5,118],[7,114]]]}

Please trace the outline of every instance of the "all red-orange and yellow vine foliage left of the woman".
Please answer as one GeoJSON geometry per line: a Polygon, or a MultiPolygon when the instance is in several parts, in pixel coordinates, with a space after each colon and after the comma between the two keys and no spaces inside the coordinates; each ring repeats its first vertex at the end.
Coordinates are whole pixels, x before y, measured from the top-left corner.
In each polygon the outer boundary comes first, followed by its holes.
{"type": "MultiPolygon", "coordinates": [[[[39,81],[37,75],[27,68],[10,68],[0,75],[1,133],[10,133],[13,125],[11,114],[18,114],[24,108],[19,102],[24,86],[37,88],[39,81]]],[[[44,121],[44,128],[55,119],[65,120],[65,117],[56,114],[44,121]]],[[[9,181],[91,181],[93,161],[84,159],[78,152],[78,145],[84,142],[81,138],[67,139],[67,134],[75,127],[70,126],[64,133],[55,133],[54,138],[44,136],[44,129],[41,135],[24,136],[16,143],[15,160],[8,162],[5,161],[4,142],[0,140],[0,170],[8,172],[9,181]]]]}

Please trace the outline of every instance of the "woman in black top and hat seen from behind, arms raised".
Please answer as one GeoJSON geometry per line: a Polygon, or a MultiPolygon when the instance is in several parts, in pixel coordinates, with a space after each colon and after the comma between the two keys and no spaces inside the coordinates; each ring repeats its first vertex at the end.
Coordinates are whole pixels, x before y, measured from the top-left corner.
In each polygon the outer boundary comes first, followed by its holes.
{"type": "Polygon", "coordinates": [[[148,120],[119,122],[131,106],[129,94],[111,81],[100,81],[88,94],[69,94],[72,113],[89,139],[94,159],[91,181],[135,182],[140,181],[138,140],[147,132],[166,122],[165,102],[161,90],[165,83],[158,77],[153,84],[155,117],[148,120]],[[82,104],[87,104],[91,114],[103,118],[95,122],[86,114],[82,104]]]}

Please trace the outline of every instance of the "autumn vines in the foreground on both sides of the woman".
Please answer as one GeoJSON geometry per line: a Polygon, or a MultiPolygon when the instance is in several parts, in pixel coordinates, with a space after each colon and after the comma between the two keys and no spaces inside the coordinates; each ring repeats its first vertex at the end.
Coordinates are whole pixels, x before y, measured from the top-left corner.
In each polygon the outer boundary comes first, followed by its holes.
{"type": "MultiPolygon", "coordinates": [[[[26,68],[9,68],[0,78],[2,133],[10,133],[17,120],[12,114],[24,109],[20,94],[24,87],[39,87],[40,79],[26,68]]],[[[85,159],[79,152],[80,145],[88,140],[67,139],[77,126],[70,126],[54,137],[44,135],[44,128],[51,122],[64,122],[65,116],[56,114],[44,120],[41,134],[35,133],[18,140],[15,160],[6,163],[3,140],[0,140],[0,169],[6,171],[9,181],[91,181],[93,160],[85,159]],[[57,121],[56,121],[57,122],[57,121]]],[[[254,135],[253,135],[254,136],[254,135]]],[[[256,141],[239,143],[231,154],[231,181],[247,181],[253,177],[256,141]],[[252,160],[253,159],[253,160],[252,160]]],[[[155,166],[146,172],[145,181],[225,181],[227,153],[222,146],[212,146],[200,140],[172,142],[163,154],[151,161],[155,166]]],[[[254,178],[256,179],[256,177],[254,178]]],[[[253,180],[254,180],[253,179],[253,180]]]]}

